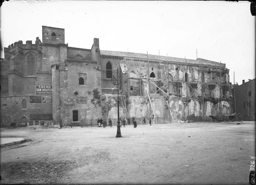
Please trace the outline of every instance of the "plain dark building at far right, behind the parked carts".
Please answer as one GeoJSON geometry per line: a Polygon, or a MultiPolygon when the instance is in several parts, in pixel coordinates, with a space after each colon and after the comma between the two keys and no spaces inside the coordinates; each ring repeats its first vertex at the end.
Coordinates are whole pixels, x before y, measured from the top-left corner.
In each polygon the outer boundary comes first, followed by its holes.
{"type": "Polygon", "coordinates": [[[241,113],[244,121],[255,121],[255,78],[243,80],[242,85],[234,85],[233,95],[233,113],[241,113]]]}

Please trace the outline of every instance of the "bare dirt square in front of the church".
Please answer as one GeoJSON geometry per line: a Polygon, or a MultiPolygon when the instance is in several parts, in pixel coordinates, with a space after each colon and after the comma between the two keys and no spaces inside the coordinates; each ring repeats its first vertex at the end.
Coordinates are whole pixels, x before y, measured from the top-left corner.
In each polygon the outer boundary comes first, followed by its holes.
{"type": "Polygon", "coordinates": [[[121,138],[116,126],[0,134],[28,140],[0,149],[0,184],[249,184],[255,156],[255,122],[128,125],[121,138]]]}

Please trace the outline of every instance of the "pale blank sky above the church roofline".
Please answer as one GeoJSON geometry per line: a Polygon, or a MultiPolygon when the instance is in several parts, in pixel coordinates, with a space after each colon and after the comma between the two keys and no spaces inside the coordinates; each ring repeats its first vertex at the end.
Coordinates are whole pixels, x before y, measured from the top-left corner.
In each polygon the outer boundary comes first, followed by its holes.
{"type": "Polygon", "coordinates": [[[36,37],[42,26],[65,29],[69,47],[196,59],[226,64],[230,82],[255,78],[255,16],[250,2],[8,1],[0,8],[4,47],[36,37]]]}

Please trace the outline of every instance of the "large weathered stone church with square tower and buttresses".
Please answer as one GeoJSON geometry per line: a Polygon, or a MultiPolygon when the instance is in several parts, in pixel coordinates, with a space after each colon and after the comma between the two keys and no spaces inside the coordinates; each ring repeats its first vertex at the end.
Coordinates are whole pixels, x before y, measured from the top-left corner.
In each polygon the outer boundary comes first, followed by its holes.
{"type": "Polygon", "coordinates": [[[116,118],[118,91],[114,86],[111,93],[111,78],[117,69],[122,117],[206,121],[233,112],[224,63],[100,50],[97,38],[91,49],[69,47],[64,29],[42,26],[42,41],[4,48],[1,123],[78,125],[83,119],[116,118]]]}

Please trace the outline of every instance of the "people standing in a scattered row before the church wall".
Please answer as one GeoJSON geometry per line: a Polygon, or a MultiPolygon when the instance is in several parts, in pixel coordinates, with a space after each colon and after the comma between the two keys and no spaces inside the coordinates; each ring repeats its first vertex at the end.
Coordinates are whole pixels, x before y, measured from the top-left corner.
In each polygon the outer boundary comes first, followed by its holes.
{"type": "MultiPolygon", "coordinates": [[[[125,127],[125,125],[130,125],[130,122],[127,123],[127,120],[126,118],[124,117],[124,119],[122,118],[119,118],[120,120],[120,123],[122,124],[123,123],[123,126],[125,127]]],[[[153,118],[152,118],[152,121],[153,121],[153,124],[155,124],[155,115],[153,115],[153,118]]],[[[102,118],[98,118],[97,120],[97,123],[98,123],[98,127],[103,127],[103,128],[106,128],[107,127],[107,122],[106,120],[102,120],[102,118]]],[[[132,124],[133,124],[133,128],[136,128],[137,127],[137,122],[135,120],[134,117],[132,117],[132,124]]],[[[143,117],[143,121],[142,121],[142,124],[146,125],[146,119],[145,117],[143,117]]],[[[112,127],[112,120],[111,118],[108,119],[108,125],[109,127],[112,127]]],[[[151,117],[149,118],[149,125],[151,126],[151,117]]],[[[122,126],[121,126],[122,127],[122,126]]]]}

